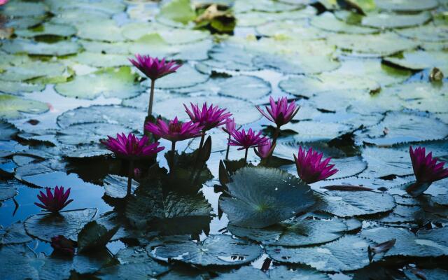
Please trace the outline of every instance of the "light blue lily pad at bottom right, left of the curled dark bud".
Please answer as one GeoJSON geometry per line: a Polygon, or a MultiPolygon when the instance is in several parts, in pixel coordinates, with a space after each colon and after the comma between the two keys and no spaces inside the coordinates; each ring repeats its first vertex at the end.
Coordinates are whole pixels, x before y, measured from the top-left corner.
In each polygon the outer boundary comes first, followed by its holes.
{"type": "MultiPolygon", "coordinates": [[[[278,262],[301,263],[324,272],[360,269],[369,265],[367,247],[373,246],[358,235],[346,235],[315,247],[267,246],[266,253],[278,262]]],[[[378,259],[379,257],[376,257],[378,259]]]]}

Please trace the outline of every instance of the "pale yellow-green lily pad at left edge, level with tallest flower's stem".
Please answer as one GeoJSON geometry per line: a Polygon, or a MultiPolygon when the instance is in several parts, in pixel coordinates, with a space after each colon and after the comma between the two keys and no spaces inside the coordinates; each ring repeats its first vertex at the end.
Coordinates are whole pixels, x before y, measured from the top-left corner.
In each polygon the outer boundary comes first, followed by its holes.
{"type": "Polygon", "coordinates": [[[45,113],[48,105],[30,99],[22,99],[15,95],[0,94],[0,118],[22,118],[21,113],[45,113]]]}

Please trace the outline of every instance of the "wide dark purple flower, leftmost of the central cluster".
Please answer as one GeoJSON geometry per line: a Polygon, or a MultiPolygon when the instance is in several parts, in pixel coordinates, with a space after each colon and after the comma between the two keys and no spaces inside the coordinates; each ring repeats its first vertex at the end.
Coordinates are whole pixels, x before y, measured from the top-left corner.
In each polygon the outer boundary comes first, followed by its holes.
{"type": "Polygon", "coordinates": [[[148,137],[139,139],[134,134],[117,134],[117,138],[108,136],[109,139],[102,141],[102,144],[115,153],[120,158],[135,160],[137,158],[146,158],[162,151],[165,147],[158,147],[159,142],[148,143],[148,137]]]}

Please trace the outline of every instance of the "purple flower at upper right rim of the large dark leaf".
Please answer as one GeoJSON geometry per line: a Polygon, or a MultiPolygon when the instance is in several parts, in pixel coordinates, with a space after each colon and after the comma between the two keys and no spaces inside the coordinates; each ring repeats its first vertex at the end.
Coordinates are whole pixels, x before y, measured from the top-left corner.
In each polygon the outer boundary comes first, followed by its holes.
{"type": "Polygon", "coordinates": [[[297,158],[294,155],[294,160],[300,179],[307,183],[315,183],[327,179],[337,172],[337,169],[332,169],[335,165],[328,164],[331,158],[321,161],[322,155],[323,153],[317,153],[312,148],[306,152],[299,147],[299,153],[297,158]]]}

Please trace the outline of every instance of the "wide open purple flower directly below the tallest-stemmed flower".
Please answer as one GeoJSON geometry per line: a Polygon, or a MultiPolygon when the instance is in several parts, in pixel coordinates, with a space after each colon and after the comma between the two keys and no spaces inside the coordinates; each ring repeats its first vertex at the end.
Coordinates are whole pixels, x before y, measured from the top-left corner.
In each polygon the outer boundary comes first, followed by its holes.
{"type": "Polygon", "coordinates": [[[177,120],[170,120],[169,123],[165,123],[163,120],[158,120],[156,124],[146,123],[145,129],[148,132],[153,133],[156,137],[167,139],[172,142],[182,141],[194,137],[202,136],[202,126],[199,123],[181,123],[177,120]]]}

